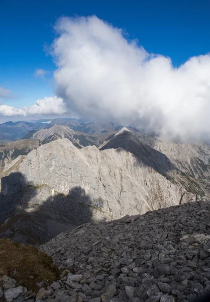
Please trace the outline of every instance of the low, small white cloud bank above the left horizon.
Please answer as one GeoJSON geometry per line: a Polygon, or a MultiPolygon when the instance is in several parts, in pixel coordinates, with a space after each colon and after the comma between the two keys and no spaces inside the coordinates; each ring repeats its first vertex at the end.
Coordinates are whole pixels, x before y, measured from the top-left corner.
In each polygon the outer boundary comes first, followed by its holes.
{"type": "Polygon", "coordinates": [[[0,105],[0,116],[61,115],[67,112],[61,98],[45,97],[38,99],[34,105],[23,109],[0,105]]]}

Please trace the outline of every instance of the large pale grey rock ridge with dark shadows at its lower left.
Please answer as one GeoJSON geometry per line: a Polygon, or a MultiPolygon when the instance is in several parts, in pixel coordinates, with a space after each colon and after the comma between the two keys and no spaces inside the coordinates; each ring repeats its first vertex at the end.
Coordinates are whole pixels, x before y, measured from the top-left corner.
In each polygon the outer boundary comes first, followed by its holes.
{"type": "Polygon", "coordinates": [[[0,237],[46,242],[85,222],[143,214],[199,198],[197,187],[187,191],[184,181],[182,185],[163,175],[173,168],[166,156],[144,147],[151,159],[152,152],[161,159],[164,169],[155,166],[155,159],[140,161],[123,148],[78,149],[66,138],[17,158],[1,174],[0,221],[10,219],[0,228],[0,237]]]}

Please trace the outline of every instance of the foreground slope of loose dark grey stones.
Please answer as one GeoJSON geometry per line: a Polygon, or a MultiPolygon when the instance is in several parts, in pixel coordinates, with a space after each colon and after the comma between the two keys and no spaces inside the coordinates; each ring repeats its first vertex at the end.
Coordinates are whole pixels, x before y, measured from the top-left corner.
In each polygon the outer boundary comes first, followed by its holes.
{"type": "Polygon", "coordinates": [[[60,234],[40,250],[64,271],[37,297],[51,302],[198,301],[210,291],[209,210],[209,201],[197,201],[60,234]]]}

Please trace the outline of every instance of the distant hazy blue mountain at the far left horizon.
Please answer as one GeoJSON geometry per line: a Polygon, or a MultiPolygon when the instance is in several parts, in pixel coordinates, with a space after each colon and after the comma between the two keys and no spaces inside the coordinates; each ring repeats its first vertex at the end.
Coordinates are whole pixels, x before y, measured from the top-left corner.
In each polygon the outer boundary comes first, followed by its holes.
{"type": "Polygon", "coordinates": [[[39,130],[47,127],[48,124],[42,122],[6,122],[0,124],[0,139],[5,140],[17,140],[26,135],[29,131],[39,130]]]}

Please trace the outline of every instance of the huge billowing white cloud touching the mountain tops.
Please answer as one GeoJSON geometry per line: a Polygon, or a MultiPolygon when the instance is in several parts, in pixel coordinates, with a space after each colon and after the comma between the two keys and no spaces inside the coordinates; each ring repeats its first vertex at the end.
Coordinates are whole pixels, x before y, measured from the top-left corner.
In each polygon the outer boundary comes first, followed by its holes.
{"type": "Polygon", "coordinates": [[[175,68],[95,16],[61,18],[55,29],[56,92],[71,110],[168,138],[210,138],[209,54],[175,68]]]}

